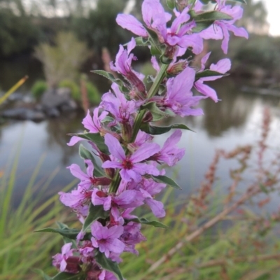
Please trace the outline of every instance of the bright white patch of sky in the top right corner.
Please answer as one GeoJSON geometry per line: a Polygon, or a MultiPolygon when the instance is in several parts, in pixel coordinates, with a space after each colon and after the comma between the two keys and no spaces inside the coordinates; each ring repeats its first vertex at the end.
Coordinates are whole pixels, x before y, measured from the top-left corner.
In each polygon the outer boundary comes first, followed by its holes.
{"type": "Polygon", "coordinates": [[[267,8],[267,22],[269,23],[269,34],[272,36],[280,36],[280,1],[279,0],[264,0],[267,8]]]}

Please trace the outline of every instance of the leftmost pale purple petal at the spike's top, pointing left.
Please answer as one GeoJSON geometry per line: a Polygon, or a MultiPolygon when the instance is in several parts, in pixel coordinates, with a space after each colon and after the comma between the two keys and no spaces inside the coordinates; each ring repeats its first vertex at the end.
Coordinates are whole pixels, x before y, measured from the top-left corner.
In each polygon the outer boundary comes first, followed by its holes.
{"type": "Polygon", "coordinates": [[[148,32],[144,26],[132,15],[119,14],[116,18],[116,22],[118,25],[132,31],[134,34],[142,37],[148,37],[148,32]]]}

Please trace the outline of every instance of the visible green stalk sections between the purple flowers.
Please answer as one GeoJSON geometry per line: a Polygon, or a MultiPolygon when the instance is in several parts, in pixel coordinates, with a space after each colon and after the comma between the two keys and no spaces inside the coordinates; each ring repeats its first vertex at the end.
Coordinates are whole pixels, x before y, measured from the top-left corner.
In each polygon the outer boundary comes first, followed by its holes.
{"type": "MultiPolygon", "coordinates": [[[[165,78],[165,72],[167,71],[168,66],[169,66],[169,64],[162,64],[162,66],[160,67],[158,76],[155,78],[155,82],[153,83],[151,89],[148,92],[147,99],[155,96],[155,94],[158,92],[160,84],[162,83],[162,80],[165,78]]],[[[140,130],[141,123],[143,121],[145,113],[146,113],[146,109],[140,111],[137,114],[137,117],[135,118],[133,130],[132,130],[132,139],[130,140],[130,143],[135,141],[137,134],[140,130]]],[[[116,193],[119,185],[120,185],[120,171],[118,170],[118,172],[116,172],[116,174],[111,182],[111,186],[109,188],[109,193],[116,193]]]]}

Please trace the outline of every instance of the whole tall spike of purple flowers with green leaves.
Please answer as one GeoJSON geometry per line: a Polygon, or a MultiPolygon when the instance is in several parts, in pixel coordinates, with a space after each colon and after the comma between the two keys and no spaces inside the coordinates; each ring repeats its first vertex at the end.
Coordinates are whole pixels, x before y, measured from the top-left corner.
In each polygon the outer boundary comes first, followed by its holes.
{"type": "Polygon", "coordinates": [[[145,240],[141,223],[165,227],[131,212],[146,204],[155,217],[165,216],[164,206],[155,200],[155,195],[167,185],[177,184],[165,176],[160,165],[172,167],[183,158],[185,150],[177,146],[182,132],[177,128],[188,127],[157,127],[152,122],[168,116],[202,115],[202,109],[197,108],[201,99],[210,97],[218,102],[215,90],[204,82],[222,78],[230,70],[229,59],[206,69],[210,53],[202,57],[200,69],[179,57],[188,48],[196,55],[202,52],[205,38],[223,38],[222,48],[226,52],[228,31],[247,36],[244,29],[234,26],[241,18],[240,6],[226,6],[225,1],[217,0],[215,10],[204,13],[200,1],[185,2],[179,5],[175,0],[168,1],[169,6],[174,5],[170,27],[167,22],[172,15],[165,12],[159,0],[144,0],[144,25],[132,15],[117,17],[118,25],[140,37],[120,45],[115,62],[111,62],[112,71],[122,78],[96,71],[113,81],[111,90],[103,95],[93,114],[89,111],[83,119],[87,133],[75,134],[69,141],[68,145],[73,146],[87,140],[92,151],[80,145],[86,171],[76,164],[69,166],[80,182],[71,193],[59,193],[60,201],[76,213],[82,224],[82,230],[59,230],[68,240],[62,253],[53,257],[53,265],[60,271],[59,279],[69,273],[79,275],[77,279],[123,279],[118,269],[120,255],[138,254],[136,245],[145,240]],[[213,20],[214,17],[217,19],[213,20]],[[132,62],[137,59],[132,51],[139,44],[150,48],[151,62],[158,72],[150,77],[150,90],[146,89],[144,75],[132,69],[132,62]],[[153,135],[172,129],[174,132],[162,147],[153,143],[153,135]]]}

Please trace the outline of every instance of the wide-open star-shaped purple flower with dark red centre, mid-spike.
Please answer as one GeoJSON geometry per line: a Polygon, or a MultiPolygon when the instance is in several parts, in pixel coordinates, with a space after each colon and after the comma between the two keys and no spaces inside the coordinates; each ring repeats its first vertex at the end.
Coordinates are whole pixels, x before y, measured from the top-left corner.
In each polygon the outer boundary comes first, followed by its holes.
{"type": "Polygon", "coordinates": [[[160,146],[158,144],[146,143],[132,155],[125,155],[125,151],[123,151],[122,146],[120,146],[119,141],[115,137],[106,134],[104,138],[105,144],[108,146],[111,155],[113,155],[116,160],[107,160],[102,167],[120,169],[120,176],[124,181],[132,181],[133,179],[134,181],[139,182],[141,181],[141,175],[151,174],[158,176],[160,174],[158,169],[153,165],[141,163],[160,151],[160,146]]]}

